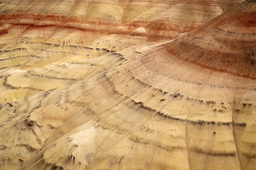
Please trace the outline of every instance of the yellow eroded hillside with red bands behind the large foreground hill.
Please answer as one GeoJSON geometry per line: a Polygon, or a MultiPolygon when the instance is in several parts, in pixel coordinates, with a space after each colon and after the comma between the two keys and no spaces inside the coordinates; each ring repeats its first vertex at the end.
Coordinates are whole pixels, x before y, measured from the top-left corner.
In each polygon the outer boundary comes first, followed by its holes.
{"type": "MultiPolygon", "coordinates": [[[[90,60],[86,63],[90,63],[92,58],[151,40],[167,38],[160,41],[168,41],[239,2],[241,0],[2,1],[0,103],[15,102],[80,81],[98,66],[95,62],[91,66],[81,64],[87,59],[90,60]],[[161,26],[165,24],[169,26],[163,30],[161,26]],[[177,24],[179,31],[173,31],[170,25],[177,24]],[[74,61],[83,67],[80,75],[72,71],[79,68],[74,61]],[[68,71],[60,64],[69,65],[68,71]]],[[[102,64],[105,62],[99,60],[102,64]]]]}

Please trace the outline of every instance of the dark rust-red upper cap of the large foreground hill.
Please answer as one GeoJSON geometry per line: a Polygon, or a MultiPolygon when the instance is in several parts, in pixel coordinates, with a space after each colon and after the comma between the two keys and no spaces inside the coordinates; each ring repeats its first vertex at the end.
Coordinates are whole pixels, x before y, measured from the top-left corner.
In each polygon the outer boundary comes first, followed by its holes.
{"type": "Polygon", "coordinates": [[[254,2],[244,2],[185,34],[168,45],[167,51],[213,71],[255,79],[254,16],[254,2]]]}

